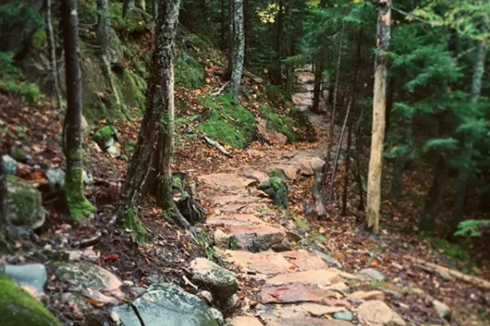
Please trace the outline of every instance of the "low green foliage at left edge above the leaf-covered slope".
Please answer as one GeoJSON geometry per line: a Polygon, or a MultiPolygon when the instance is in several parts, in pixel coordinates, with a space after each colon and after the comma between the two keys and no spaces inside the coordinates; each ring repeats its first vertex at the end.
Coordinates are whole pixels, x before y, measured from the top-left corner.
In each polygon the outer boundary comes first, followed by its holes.
{"type": "Polygon", "coordinates": [[[0,51],[0,76],[0,88],[21,95],[31,103],[37,102],[39,87],[23,80],[20,68],[13,61],[13,53],[0,51]]]}

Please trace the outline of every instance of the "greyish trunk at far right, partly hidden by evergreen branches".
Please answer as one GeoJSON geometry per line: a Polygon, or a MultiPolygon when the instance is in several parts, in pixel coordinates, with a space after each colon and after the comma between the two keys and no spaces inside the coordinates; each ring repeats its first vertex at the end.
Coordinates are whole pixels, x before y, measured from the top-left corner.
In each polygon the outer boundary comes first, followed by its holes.
{"type": "MultiPolygon", "coordinates": [[[[486,31],[486,28],[483,28],[483,33],[486,31]]],[[[481,83],[483,78],[483,73],[485,72],[485,57],[486,57],[486,39],[478,41],[477,52],[476,52],[476,61],[474,63],[473,76],[471,79],[471,92],[469,95],[469,101],[471,104],[476,106],[478,100],[481,95],[481,83]]],[[[472,155],[471,152],[473,150],[473,140],[470,138],[471,136],[467,136],[467,139],[464,143],[464,149],[466,151],[466,159],[471,161],[472,155]]],[[[468,183],[468,179],[470,173],[467,168],[463,167],[459,169],[459,175],[457,180],[457,192],[456,198],[454,199],[454,207],[452,210],[452,217],[450,221],[451,235],[456,231],[458,223],[461,221],[464,215],[464,206],[466,200],[466,187],[468,183]]]]}

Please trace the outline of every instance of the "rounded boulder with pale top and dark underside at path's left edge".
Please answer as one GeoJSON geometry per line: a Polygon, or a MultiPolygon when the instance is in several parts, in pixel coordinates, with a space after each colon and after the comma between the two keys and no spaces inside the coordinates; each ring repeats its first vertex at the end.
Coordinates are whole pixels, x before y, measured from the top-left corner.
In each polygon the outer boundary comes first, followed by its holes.
{"type": "Polygon", "coordinates": [[[204,285],[219,299],[225,300],[238,291],[238,282],[228,270],[205,259],[190,262],[192,281],[204,285]]]}

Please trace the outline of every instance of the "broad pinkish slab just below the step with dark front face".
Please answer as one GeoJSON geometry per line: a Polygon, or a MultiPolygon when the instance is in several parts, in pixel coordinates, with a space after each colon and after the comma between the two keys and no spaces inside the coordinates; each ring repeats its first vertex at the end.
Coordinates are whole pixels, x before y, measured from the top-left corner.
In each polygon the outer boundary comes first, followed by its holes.
{"type": "Polygon", "coordinates": [[[295,269],[284,257],[270,251],[250,253],[243,250],[216,250],[216,253],[223,261],[238,267],[242,273],[276,275],[291,273],[295,269]]]}

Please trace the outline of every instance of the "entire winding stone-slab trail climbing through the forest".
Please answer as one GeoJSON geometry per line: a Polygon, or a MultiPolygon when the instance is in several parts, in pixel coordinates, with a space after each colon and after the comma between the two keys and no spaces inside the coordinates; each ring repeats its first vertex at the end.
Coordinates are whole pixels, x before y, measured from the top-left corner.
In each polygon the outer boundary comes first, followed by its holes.
{"type": "MultiPolygon", "coordinates": [[[[298,69],[302,91],[294,95],[294,102],[316,132],[325,134],[325,117],[307,111],[310,71],[298,69]]],[[[366,280],[382,281],[379,272],[365,269],[353,275],[339,269],[321,245],[309,246],[309,252],[300,249],[298,243],[307,241],[302,239],[304,231],[280,216],[270,199],[253,187],[266,181],[271,170],[281,171],[289,186],[312,176],[324,164],[325,148],[320,140],[313,148],[292,152],[252,150],[252,155],[260,156],[253,165],[197,176],[201,199],[210,203],[205,223],[214,230],[216,255],[234,272],[239,291],[254,298],[245,300],[230,325],[349,326],[355,321],[407,325],[384,303],[383,292],[366,289],[366,280]]]]}

